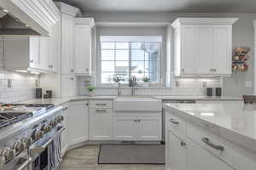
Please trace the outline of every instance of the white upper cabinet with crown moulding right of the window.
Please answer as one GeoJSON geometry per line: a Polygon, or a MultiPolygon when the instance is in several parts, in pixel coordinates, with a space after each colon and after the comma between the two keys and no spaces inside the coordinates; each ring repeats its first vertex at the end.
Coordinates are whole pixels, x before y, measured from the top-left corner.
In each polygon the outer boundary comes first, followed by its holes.
{"type": "Polygon", "coordinates": [[[236,18],[178,18],[174,28],[175,76],[230,76],[236,18]]]}

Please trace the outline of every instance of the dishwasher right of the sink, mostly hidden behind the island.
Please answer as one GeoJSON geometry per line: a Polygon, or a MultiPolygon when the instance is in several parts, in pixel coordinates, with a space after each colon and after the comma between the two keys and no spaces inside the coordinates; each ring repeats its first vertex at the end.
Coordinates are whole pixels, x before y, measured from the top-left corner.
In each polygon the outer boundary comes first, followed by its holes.
{"type": "MultiPolygon", "coordinates": [[[[195,99],[164,99],[163,104],[167,103],[178,103],[178,104],[195,104],[196,100],[195,99]]],[[[165,110],[162,109],[162,141],[161,144],[166,143],[166,113],[165,110]]]]}

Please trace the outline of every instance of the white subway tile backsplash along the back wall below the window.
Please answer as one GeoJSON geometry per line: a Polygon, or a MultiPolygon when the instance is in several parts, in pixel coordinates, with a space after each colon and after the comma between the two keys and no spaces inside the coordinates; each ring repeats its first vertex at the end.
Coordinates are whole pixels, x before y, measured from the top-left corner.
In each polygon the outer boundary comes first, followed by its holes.
{"type": "MultiPolygon", "coordinates": [[[[86,77],[79,77],[78,79],[78,93],[79,95],[87,95],[88,91],[84,87],[84,81],[88,80],[86,77]]],[[[173,79],[172,88],[137,88],[137,95],[175,95],[175,96],[205,96],[206,88],[203,88],[202,82],[207,82],[207,87],[217,88],[222,87],[221,78],[176,78],[173,79]],[[179,82],[179,87],[175,87],[175,82],[179,82]]],[[[123,95],[130,95],[130,88],[121,88],[123,95]]],[[[96,88],[96,95],[116,95],[117,88],[96,88]]]]}

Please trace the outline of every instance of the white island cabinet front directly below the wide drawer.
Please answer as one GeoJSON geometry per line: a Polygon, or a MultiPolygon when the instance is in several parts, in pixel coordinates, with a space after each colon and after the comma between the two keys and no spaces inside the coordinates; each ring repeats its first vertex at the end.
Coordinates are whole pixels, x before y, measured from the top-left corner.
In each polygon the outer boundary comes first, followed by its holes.
{"type": "Polygon", "coordinates": [[[212,156],[207,150],[199,144],[189,140],[187,141],[187,162],[188,170],[232,170],[233,168],[220,161],[216,156],[212,156]]]}

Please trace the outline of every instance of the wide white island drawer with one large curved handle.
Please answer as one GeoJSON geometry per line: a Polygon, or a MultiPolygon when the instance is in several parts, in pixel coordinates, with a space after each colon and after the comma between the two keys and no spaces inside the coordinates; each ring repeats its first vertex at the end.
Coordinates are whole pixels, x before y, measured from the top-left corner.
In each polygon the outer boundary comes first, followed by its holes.
{"type": "Polygon", "coordinates": [[[231,167],[252,170],[256,167],[256,154],[246,150],[195,124],[187,124],[188,137],[231,167]]]}

